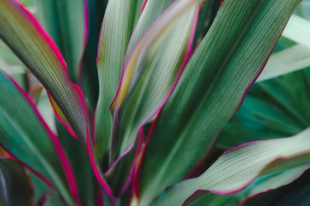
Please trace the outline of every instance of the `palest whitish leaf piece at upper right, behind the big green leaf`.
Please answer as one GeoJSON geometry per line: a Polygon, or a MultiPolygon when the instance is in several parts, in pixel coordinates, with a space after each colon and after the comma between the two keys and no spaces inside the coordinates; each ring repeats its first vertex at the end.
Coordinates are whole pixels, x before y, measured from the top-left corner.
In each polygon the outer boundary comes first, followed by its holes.
{"type": "Polygon", "coordinates": [[[282,33],[282,36],[307,47],[310,47],[309,35],[310,21],[295,14],[292,15],[282,33]]]}

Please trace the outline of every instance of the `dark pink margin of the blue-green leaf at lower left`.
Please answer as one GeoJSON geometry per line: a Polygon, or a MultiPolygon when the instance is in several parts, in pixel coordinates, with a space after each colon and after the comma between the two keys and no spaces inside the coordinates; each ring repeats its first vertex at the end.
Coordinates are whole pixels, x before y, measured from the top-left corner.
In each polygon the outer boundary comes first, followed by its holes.
{"type": "MultiPolygon", "coordinates": [[[[57,154],[59,156],[60,162],[62,163],[63,169],[64,169],[64,173],[66,175],[66,178],[68,180],[69,183],[69,187],[72,193],[72,196],[76,202],[76,204],[79,206],[80,204],[80,200],[79,200],[79,191],[78,191],[78,186],[77,186],[77,182],[75,179],[75,174],[73,172],[73,169],[70,165],[70,162],[66,156],[66,154],[63,151],[63,148],[60,144],[60,141],[58,139],[58,137],[56,137],[51,129],[48,127],[48,125],[46,124],[46,122],[44,121],[43,117],[41,116],[41,114],[39,113],[36,105],[32,102],[32,100],[29,98],[29,96],[26,94],[26,92],[17,84],[17,82],[11,78],[10,76],[7,75],[7,77],[11,80],[11,82],[16,86],[16,88],[23,94],[23,96],[25,97],[25,99],[29,102],[29,104],[31,105],[31,107],[33,108],[34,112],[37,114],[38,118],[40,119],[40,121],[42,122],[43,126],[46,128],[47,133],[49,134],[52,143],[55,146],[55,149],[57,151],[57,154]]],[[[29,167],[28,167],[29,168],[29,167]]],[[[34,171],[34,170],[32,170],[34,171]]],[[[38,174],[35,172],[35,174],[38,174]]],[[[41,175],[39,175],[39,177],[41,179],[43,179],[46,183],[48,183],[49,186],[52,186],[46,179],[42,178],[41,175]]],[[[53,188],[53,187],[52,187],[53,188]]]]}

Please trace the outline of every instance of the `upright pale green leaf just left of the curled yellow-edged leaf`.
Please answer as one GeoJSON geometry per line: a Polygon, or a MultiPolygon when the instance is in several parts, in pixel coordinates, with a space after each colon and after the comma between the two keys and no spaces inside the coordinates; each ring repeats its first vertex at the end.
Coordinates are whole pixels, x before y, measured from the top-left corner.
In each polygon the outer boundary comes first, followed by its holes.
{"type": "Polygon", "coordinates": [[[140,1],[109,0],[104,14],[97,57],[100,93],[95,119],[96,152],[100,159],[103,158],[111,134],[112,116],[109,106],[118,89],[135,16],[140,15],[140,11],[137,12],[140,1]]]}

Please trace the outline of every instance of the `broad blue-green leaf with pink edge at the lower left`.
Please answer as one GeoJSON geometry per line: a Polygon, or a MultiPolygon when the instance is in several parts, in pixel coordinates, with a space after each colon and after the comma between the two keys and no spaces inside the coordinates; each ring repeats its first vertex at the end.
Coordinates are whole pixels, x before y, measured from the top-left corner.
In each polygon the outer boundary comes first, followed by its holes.
{"type": "Polygon", "coordinates": [[[78,205],[75,176],[58,138],[27,94],[2,72],[0,96],[0,144],[55,187],[67,204],[78,205]]]}

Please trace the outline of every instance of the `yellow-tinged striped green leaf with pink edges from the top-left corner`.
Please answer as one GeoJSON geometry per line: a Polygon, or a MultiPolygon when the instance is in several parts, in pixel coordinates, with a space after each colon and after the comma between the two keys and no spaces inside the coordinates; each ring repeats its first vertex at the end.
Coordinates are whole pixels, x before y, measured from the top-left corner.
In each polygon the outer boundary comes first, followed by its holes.
{"type": "Polygon", "coordinates": [[[34,16],[15,0],[0,1],[0,37],[46,88],[59,121],[78,138],[89,155],[98,181],[112,196],[94,154],[83,93],[70,81],[66,63],[52,39],[34,16]]]}

